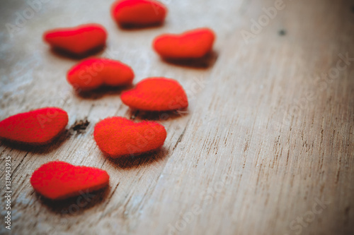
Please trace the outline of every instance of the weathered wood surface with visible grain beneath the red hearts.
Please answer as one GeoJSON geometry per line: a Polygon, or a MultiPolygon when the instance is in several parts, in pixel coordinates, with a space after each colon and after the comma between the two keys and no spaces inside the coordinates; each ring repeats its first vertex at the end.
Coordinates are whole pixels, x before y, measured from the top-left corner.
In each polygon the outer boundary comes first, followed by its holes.
{"type": "MultiPolygon", "coordinates": [[[[165,1],[165,25],[144,30],[118,28],[111,2],[47,1],[13,37],[5,24],[29,6],[1,2],[0,119],[48,106],[69,114],[50,147],[0,145],[1,188],[4,158],[13,164],[11,234],[354,233],[354,60],[339,56],[354,57],[354,1],[285,0],[248,44],[242,30],[275,1],[165,1]],[[108,29],[101,55],[132,66],[135,83],[166,76],[188,91],[188,112],[161,121],[161,151],[113,161],[98,150],[100,119],[158,117],[131,112],[120,90],[72,90],[65,75],[76,61],[50,52],[42,32],[88,22],[108,29]],[[201,66],[168,64],[152,51],[156,35],[202,26],[217,42],[201,66]],[[42,200],[30,175],[55,159],[105,169],[109,188],[87,195],[89,203],[42,200]]],[[[1,216],[4,202],[1,193],[1,216]]]]}

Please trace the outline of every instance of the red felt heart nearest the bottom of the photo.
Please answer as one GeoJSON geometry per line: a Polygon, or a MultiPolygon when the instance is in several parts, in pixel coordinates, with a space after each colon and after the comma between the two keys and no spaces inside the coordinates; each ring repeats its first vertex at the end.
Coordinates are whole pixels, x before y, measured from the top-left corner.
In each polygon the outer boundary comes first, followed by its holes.
{"type": "Polygon", "coordinates": [[[102,169],[59,161],[42,164],[30,177],[30,184],[35,191],[52,200],[96,191],[107,186],[108,181],[109,176],[102,169]]]}

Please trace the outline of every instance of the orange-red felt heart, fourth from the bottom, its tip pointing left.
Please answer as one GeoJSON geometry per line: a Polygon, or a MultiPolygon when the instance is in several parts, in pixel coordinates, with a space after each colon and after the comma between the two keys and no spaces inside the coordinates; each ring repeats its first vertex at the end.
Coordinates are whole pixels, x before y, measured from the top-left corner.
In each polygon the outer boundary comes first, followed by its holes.
{"type": "Polygon", "coordinates": [[[123,92],[122,102],[132,109],[169,111],[188,107],[187,95],[182,86],[169,78],[146,78],[135,88],[123,92]]]}

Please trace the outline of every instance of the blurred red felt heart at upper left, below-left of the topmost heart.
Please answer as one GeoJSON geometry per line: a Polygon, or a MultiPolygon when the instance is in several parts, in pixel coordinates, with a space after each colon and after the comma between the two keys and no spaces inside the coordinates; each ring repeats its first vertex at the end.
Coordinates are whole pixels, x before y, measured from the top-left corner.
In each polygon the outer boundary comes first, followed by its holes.
{"type": "Polygon", "coordinates": [[[43,39],[54,49],[82,56],[93,49],[103,47],[107,32],[102,25],[86,24],[73,28],[56,28],[44,33],[43,39]]]}

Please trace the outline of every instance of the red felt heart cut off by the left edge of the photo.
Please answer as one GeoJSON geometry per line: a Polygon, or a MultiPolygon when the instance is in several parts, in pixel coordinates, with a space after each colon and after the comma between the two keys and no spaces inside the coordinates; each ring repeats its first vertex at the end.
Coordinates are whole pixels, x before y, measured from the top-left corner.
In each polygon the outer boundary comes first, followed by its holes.
{"type": "Polygon", "coordinates": [[[62,109],[36,109],[0,121],[0,138],[30,145],[52,141],[64,131],[68,115],[62,109]]]}

